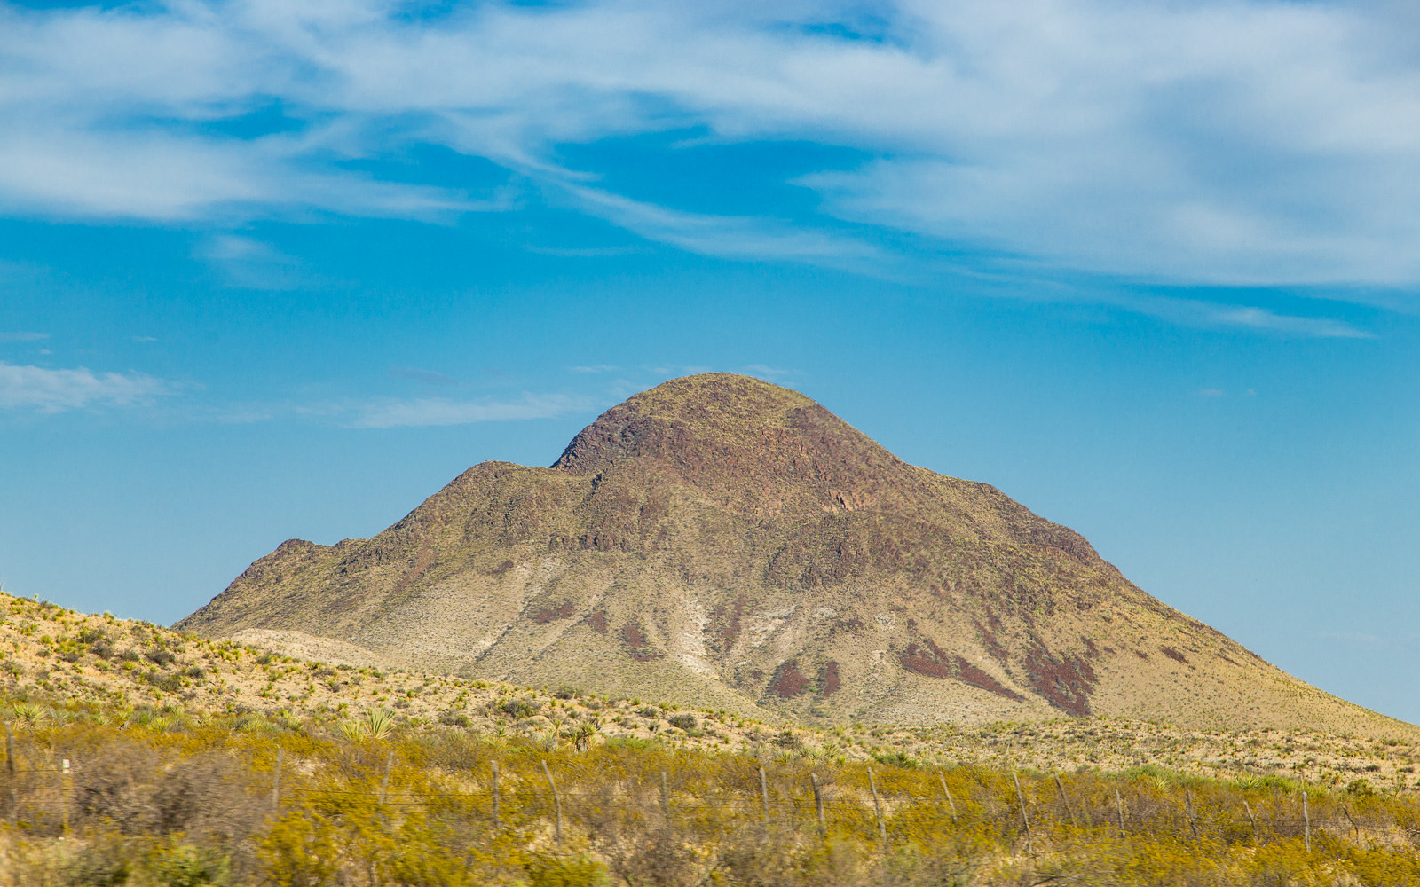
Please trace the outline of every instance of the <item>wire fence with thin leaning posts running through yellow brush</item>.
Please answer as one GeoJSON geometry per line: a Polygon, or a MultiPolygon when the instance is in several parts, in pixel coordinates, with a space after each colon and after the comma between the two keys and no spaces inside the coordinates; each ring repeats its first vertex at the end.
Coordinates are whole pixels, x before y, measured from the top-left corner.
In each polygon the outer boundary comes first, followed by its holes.
{"type": "MultiPolygon", "coordinates": [[[[149,806],[179,803],[175,798],[180,792],[162,798],[165,788],[173,788],[165,786],[163,766],[162,761],[146,761],[112,769],[102,756],[85,759],[78,749],[17,751],[7,727],[6,786],[0,792],[4,819],[13,827],[65,834],[75,822],[114,820],[125,809],[146,809],[145,790],[156,798],[149,806]],[[145,768],[151,768],[146,781],[145,768]]],[[[554,834],[559,849],[574,843],[574,834],[595,836],[615,822],[622,829],[635,826],[682,837],[748,826],[797,834],[852,832],[879,842],[885,852],[973,827],[1027,853],[1132,836],[1167,836],[1200,846],[1265,846],[1302,839],[1308,852],[1321,836],[1356,844],[1420,840],[1420,817],[1377,816],[1360,810],[1358,799],[1305,786],[1213,790],[1204,803],[1196,803],[1187,782],[1149,776],[1095,773],[1082,785],[1071,775],[1062,779],[1062,773],[1011,772],[1003,781],[1003,773],[990,775],[984,768],[967,775],[961,769],[929,768],[916,771],[913,785],[905,788],[903,779],[885,778],[890,772],[872,766],[785,772],[748,759],[733,775],[686,778],[667,769],[599,772],[535,752],[523,754],[515,765],[490,752],[477,769],[420,771],[399,761],[393,748],[382,751],[373,766],[339,772],[327,766],[325,781],[337,785],[321,785],[280,745],[264,786],[263,766],[250,761],[213,771],[203,782],[199,762],[183,778],[204,786],[199,786],[199,795],[241,788],[256,817],[278,819],[311,806],[368,808],[390,820],[412,810],[457,813],[491,832],[554,834]],[[933,785],[940,790],[930,789],[933,785]]],[[[160,825],[165,816],[173,819],[176,813],[133,813],[129,825],[160,825]]]]}

